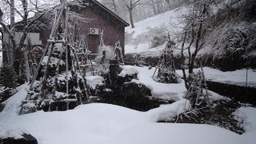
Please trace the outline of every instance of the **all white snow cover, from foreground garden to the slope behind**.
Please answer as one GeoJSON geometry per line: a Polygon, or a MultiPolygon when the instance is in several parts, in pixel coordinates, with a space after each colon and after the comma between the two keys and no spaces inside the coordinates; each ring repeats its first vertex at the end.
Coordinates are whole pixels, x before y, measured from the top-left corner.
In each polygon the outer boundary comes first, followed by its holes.
{"type": "MultiPolygon", "coordinates": [[[[167,25],[168,22],[177,23],[177,17],[181,14],[180,8],[160,14],[155,18],[135,23],[135,28],[126,28],[127,34],[132,38],[138,38],[150,28],[167,25]],[[163,24],[164,23],[164,24],[163,24]]],[[[126,44],[126,54],[147,53],[160,54],[159,50],[166,47],[166,43],[154,49],[150,49],[149,41],[138,45],[126,44]]],[[[184,97],[186,88],[184,82],[178,84],[165,84],[155,82],[152,78],[155,68],[148,70],[147,67],[123,66],[120,75],[138,74],[138,80],[151,90],[155,98],[176,99],[170,105],[140,112],[130,110],[122,106],[110,104],[91,103],[77,106],[74,110],[43,112],[18,116],[20,105],[26,98],[27,86],[18,88],[18,93],[3,102],[6,106],[0,113],[0,139],[7,135],[20,137],[20,131],[30,133],[37,138],[39,144],[170,144],[170,143],[246,143],[256,142],[256,108],[242,107],[234,112],[234,118],[242,122],[245,134],[239,135],[218,126],[202,124],[178,124],[158,123],[160,120],[170,120],[186,110],[190,110],[190,102],[184,97]]],[[[197,71],[197,70],[194,70],[197,71]]],[[[204,67],[207,79],[220,82],[234,82],[243,84],[246,80],[246,70],[234,72],[222,72],[204,67]]],[[[182,75],[181,71],[177,70],[182,75]]],[[[157,74],[155,74],[157,75],[157,74]]],[[[249,70],[248,83],[256,84],[256,74],[249,70]]],[[[87,84],[94,86],[101,83],[101,77],[86,78],[87,84]]],[[[211,102],[222,96],[211,92],[211,102]]]]}

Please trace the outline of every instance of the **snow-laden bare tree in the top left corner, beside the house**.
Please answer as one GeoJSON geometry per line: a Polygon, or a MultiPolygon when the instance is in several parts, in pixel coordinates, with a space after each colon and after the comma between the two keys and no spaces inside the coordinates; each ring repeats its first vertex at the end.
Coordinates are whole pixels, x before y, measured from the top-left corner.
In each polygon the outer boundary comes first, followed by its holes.
{"type": "MultiPolygon", "coordinates": [[[[70,1],[69,5],[82,6],[82,1],[70,1]]],[[[24,42],[30,30],[42,30],[49,26],[54,19],[56,6],[59,5],[58,0],[3,0],[0,2],[0,10],[3,14],[0,20],[0,26],[5,33],[10,36],[10,50],[14,51],[14,60],[10,60],[10,64],[14,65],[17,74],[22,74],[22,50],[24,42]],[[16,19],[14,19],[16,18],[16,19]],[[22,30],[21,30],[22,27],[22,30]],[[21,38],[15,38],[15,32],[21,33],[21,38]]],[[[70,19],[81,22],[86,21],[79,14],[70,12],[70,19]]]]}

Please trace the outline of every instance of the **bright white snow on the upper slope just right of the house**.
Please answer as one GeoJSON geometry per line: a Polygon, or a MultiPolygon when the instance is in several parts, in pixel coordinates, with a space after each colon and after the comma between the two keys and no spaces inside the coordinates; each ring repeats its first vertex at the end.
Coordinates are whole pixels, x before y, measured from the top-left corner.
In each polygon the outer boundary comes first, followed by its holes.
{"type": "MultiPolygon", "coordinates": [[[[134,23],[134,28],[132,29],[130,26],[126,27],[126,35],[131,34],[131,38],[138,41],[139,37],[143,34],[145,38],[142,38],[142,41],[135,43],[126,43],[125,53],[126,54],[139,54],[139,53],[148,53],[159,55],[160,50],[163,50],[166,47],[166,43],[162,46],[157,46],[154,48],[150,47],[151,38],[155,35],[159,35],[158,30],[163,30],[161,33],[167,34],[171,32],[170,38],[176,38],[178,32],[182,30],[182,26],[184,23],[179,22],[181,15],[186,14],[186,7],[179,7],[174,10],[167,11],[163,14],[158,14],[151,18],[146,18],[141,22],[134,23]],[[170,24],[171,23],[171,24],[170,24]],[[151,30],[157,30],[157,34],[152,35],[150,33],[151,30]]],[[[127,39],[127,38],[126,38],[127,39]]]]}

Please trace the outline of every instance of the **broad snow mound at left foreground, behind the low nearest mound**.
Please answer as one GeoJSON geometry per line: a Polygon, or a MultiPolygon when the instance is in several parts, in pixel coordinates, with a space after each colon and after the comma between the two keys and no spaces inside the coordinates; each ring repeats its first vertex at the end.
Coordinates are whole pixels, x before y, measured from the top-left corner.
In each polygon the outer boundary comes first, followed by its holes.
{"type": "MultiPolygon", "coordinates": [[[[157,122],[159,119],[174,118],[176,114],[184,112],[185,102],[161,106],[148,112],[130,110],[122,106],[92,103],[77,106],[74,110],[43,112],[18,116],[17,103],[24,97],[23,90],[7,100],[8,113],[0,113],[0,133],[2,137],[14,135],[18,137],[18,130],[6,132],[6,127],[20,127],[37,138],[38,143],[112,143],[116,135],[142,123],[157,122]],[[21,97],[21,98],[20,98],[21,97]],[[19,99],[20,98],[20,99],[19,99]],[[17,100],[17,101],[14,101],[17,100]],[[158,110],[159,109],[159,110],[158,110]],[[168,116],[168,117],[166,117],[168,116]]],[[[189,103],[186,103],[189,104],[189,103]]],[[[190,106],[187,105],[187,108],[190,106]]],[[[128,134],[130,135],[130,134],[128,134]]],[[[165,141],[165,140],[164,140],[165,141]]],[[[136,143],[136,142],[135,142],[136,143]]]]}

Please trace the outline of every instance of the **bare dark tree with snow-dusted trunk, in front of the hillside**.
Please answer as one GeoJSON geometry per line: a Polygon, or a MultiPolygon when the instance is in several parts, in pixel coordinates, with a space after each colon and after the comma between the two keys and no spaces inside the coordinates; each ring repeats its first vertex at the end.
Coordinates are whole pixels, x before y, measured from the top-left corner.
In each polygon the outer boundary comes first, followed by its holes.
{"type": "Polygon", "coordinates": [[[188,8],[189,13],[183,15],[183,20],[186,22],[184,28],[183,43],[182,43],[182,58],[185,59],[183,50],[188,50],[188,69],[189,78],[186,79],[186,74],[183,66],[183,77],[185,78],[186,88],[190,86],[190,82],[193,78],[193,69],[195,65],[195,58],[198,51],[202,48],[204,40],[202,35],[206,31],[206,18],[210,17],[211,9],[210,6],[214,3],[214,0],[193,0],[190,1],[188,8]],[[189,42],[189,46],[185,47],[185,42],[189,42]],[[194,50],[191,50],[191,46],[194,46],[194,50]]]}

